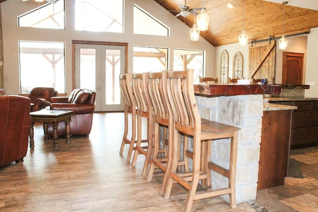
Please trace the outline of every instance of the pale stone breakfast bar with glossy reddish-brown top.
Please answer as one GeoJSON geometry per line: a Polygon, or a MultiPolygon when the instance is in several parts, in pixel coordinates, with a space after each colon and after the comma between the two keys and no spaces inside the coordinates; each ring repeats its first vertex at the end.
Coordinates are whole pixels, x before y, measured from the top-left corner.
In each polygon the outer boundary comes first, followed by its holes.
{"type": "MultiPolygon", "coordinates": [[[[278,97],[281,92],[281,85],[201,83],[195,84],[194,88],[201,118],[229,124],[241,129],[238,138],[236,177],[237,203],[256,199],[257,186],[260,183],[258,182],[258,175],[262,151],[260,145],[263,139],[262,120],[264,111],[276,111],[278,114],[280,114],[279,111],[287,111],[284,115],[289,116],[287,126],[290,127],[291,111],[297,107],[270,104],[268,102],[264,103],[263,94],[278,97]]],[[[283,155],[285,160],[284,166],[286,166],[284,167],[286,169],[284,173],[286,174],[290,135],[289,131],[285,132],[288,134],[285,137],[287,141],[284,141],[286,153],[283,155]]],[[[229,145],[229,139],[213,142],[212,162],[221,166],[228,166],[229,145]]],[[[269,154],[271,154],[271,152],[269,152],[269,154]]],[[[212,172],[211,177],[213,189],[222,188],[227,184],[226,179],[216,172],[212,172]]],[[[284,177],[286,177],[286,175],[282,176],[283,179],[284,177]]],[[[267,180],[268,179],[264,179],[264,181],[267,180]]],[[[227,196],[223,198],[229,201],[227,196]]]]}

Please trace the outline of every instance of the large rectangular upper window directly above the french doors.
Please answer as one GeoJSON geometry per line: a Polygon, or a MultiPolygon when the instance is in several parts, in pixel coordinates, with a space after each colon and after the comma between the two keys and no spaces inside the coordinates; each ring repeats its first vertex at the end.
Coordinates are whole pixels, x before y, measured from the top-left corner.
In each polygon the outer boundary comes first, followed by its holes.
{"type": "Polygon", "coordinates": [[[123,33],[123,0],[75,0],[75,30],[123,33]]]}

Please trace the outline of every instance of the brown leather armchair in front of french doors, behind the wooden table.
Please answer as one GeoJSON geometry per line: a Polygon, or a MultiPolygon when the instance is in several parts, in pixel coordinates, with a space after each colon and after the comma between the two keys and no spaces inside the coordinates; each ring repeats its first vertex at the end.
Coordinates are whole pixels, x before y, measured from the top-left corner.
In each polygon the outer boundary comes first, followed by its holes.
{"type": "MultiPolygon", "coordinates": [[[[93,121],[96,93],[87,89],[74,89],[69,97],[52,97],[51,110],[72,110],[71,135],[85,135],[88,137],[93,121]]],[[[48,134],[52,136],[52,126],[49,126],[48,134]]],[[[58,135],[65,136],[65,122],[59,123],[58,135]]]]}

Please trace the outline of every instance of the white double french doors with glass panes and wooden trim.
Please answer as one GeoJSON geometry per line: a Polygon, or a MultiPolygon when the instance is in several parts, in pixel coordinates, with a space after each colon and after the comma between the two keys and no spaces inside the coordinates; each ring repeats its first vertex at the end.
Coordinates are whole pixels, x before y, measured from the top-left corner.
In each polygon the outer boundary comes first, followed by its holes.
{"type": "Polygon", "coordinates": [[[124,109],[119,74],[125,72],[125,46],[75,45],[75,85],[96,91],[95,112],[124,109]]]}

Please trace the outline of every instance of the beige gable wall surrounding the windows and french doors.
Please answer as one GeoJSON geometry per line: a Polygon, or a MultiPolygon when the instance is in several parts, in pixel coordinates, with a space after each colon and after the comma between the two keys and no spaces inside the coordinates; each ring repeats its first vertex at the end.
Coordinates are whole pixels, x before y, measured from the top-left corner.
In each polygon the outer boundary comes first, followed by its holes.
{"type": "MultiPolygon", "coordinates": [[[[169,69],[173,68],[173,48],[205,50],[206,58],[215,58],[215,48],[202,37],[198,42],[191,42],[189,27],[175,18],[170,12],[164,11],[154,0],[125,0],[124,32],[87,32],[74,30],[74,2],[65,0],[66,24],[63,30],[38,29],[17,26],[17,16],[30,10],[36,2],[31,0],[8,0],[1,3],[3,33],[3,79],[7,94],[18,94],[19,58],[18,41],[52,41],[65,42],[66,52],[66,92],[72,91],[72,40],[105,41],[128,43],[128,71],[133,70],[133,46],[151,46],[169,48],[169,69]],[[170,36],[148,36],[133,34],[133,5],[136,3],[162,23],[170,27],[170,36]]],[[[111,5],[110,5],[111,8],[111,5]]],[[[187,17],[187,18],[193,18],[187,17]]],[[[102,20],[101,20],[102,21],[102,20]]],[[[206,72],[214,70],[213,61],[206,60],[206,72]]],[[[36,66],[36,64],[35,64],[36,66]]]]}

